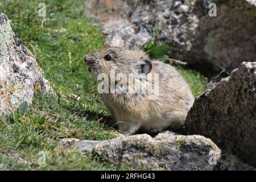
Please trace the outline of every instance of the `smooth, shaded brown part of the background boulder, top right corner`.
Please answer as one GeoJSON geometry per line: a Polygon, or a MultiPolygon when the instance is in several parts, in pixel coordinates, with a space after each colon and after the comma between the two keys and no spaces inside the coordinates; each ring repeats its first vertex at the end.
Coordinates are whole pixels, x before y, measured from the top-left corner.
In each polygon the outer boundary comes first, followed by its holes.
{"type": "Polygon", "coordinates": [[[242,61],[255,61],[256,6],[244,0],[212,1],[217,4],[217,17],[210,17],[205,2],[197,1],[193,10],[200,21],[187,60],[208,60],[228,71],[242,61]]]}

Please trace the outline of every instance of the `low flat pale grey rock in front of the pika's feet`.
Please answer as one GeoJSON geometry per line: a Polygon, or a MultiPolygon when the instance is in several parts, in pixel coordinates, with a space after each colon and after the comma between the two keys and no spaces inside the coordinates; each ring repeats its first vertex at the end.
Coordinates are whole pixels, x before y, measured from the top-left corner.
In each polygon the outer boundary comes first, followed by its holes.
{"type": "Polygon", "coordinates": [[[135,168],[156,170],[213,170],[221,154],[210,139],[169,133],[155,138],[140,134],[104,141],[82,140],[75,146],[72,148],[92,152],[112,164],[130,163],[135,168]]]}

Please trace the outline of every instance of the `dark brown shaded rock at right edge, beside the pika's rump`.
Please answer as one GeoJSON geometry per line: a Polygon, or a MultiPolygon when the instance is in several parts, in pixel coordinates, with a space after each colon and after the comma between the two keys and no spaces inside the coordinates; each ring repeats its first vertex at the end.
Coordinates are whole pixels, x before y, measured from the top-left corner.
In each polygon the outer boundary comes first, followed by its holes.
{"type": "Polygon", "coordinates": [[[185,130],[212,139],[256,166],[256,62],[243,62],[230,77],[197,97],[185,130]]]}

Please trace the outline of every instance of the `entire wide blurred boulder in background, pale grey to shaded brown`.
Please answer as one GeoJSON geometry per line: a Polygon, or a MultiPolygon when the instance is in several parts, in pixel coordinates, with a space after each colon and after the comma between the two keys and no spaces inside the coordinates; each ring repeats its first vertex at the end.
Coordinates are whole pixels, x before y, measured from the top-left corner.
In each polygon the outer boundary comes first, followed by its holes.
{"type": "Polygon", "coordinates": [[[102,23],[106,45],[144,48],[168,44],[168,54],[189,63],[237,68],[256,57],[255,0],[85,0],[85,12],[102,23]],[[216,3],[217,16],[209,16],[216,3]]]}

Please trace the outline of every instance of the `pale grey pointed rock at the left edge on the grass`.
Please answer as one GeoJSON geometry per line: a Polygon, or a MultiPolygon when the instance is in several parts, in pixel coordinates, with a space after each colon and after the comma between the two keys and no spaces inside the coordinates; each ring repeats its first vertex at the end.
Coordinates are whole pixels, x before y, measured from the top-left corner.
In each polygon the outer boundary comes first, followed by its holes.
{"type": "Polygon", "coordinates": [[[11,30],[0,13],[0,113],[10,114],[22,102],[32,102],[35,89],[51,91],[34,55],[11,30]]]}

